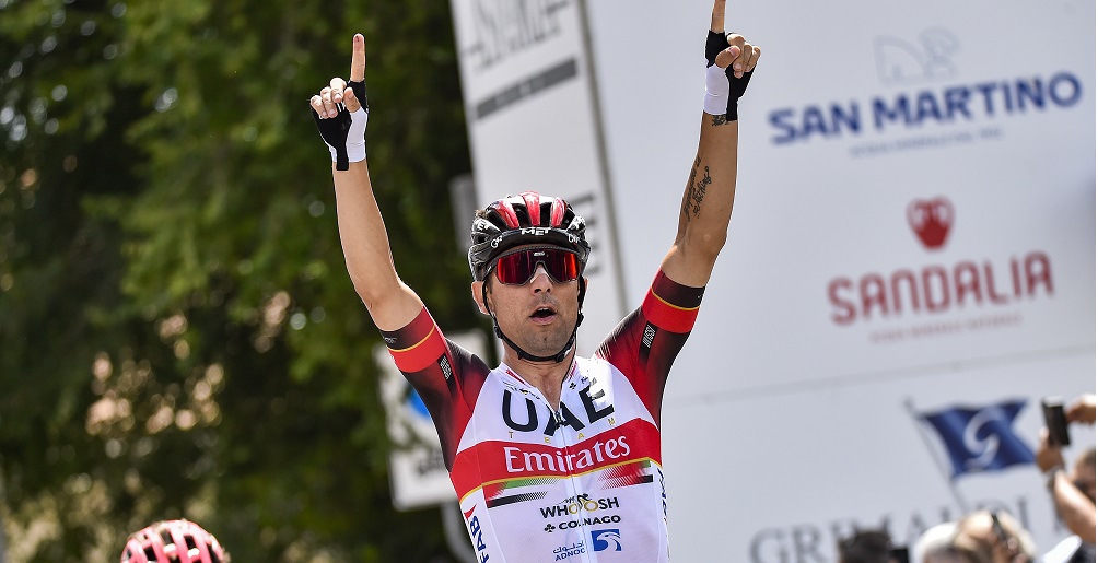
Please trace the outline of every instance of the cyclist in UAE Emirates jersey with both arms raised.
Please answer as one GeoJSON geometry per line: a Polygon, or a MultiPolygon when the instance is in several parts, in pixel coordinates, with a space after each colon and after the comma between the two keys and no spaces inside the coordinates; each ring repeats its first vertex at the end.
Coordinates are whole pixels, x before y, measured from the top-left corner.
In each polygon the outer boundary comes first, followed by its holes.
{"type": "Polygon", "coordinates": [[[727,237],[736,190],[737,101],[760,48],[726,34],[716,0],[706,97],[679,232],[641,306],[592,358],[575,353],[590,252],[559,198],[506,196],[471,228],[472,296],[503,340],[492,369],[447,340],[399,278],[370,188],[366,48],[350,80],[311,101],[334,161],[339,236],[355,290],[430,410],[479,561],[668,561],[660,403],[727,237]]]}

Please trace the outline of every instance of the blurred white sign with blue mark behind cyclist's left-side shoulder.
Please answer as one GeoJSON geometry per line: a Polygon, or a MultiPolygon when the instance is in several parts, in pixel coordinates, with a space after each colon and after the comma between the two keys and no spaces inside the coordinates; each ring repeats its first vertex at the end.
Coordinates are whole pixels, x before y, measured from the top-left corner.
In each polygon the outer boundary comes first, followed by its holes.
{"type": "MultiPolygon", "coordinates": [[[[473,353],[483,356],[486,350],[480,333],[459,333],[447,337],[473,353]]],[[[389,437],[396,446],[389,455],[393,506],[400,510],[412,510],[453,502],[453,485],[426,405],[396,369],[384,346],[377,347],[373,357],[381,368],[379,384],[389,437]]]]}

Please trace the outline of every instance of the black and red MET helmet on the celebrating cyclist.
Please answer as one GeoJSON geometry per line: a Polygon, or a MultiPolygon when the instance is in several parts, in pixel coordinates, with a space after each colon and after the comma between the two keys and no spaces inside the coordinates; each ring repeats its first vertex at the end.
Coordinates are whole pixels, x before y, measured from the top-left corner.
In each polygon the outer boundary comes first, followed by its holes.
{"type": "Polygon", "coordinates": [[[508,195],[477,212],[470,233],[469,269],[474,280],[483,281],[492,261],[506,250],[540,244],[572,250],[579,255],[582,271],[591,254],[585,228],[583,217],[560,198],[537,192],[508,195]]]}

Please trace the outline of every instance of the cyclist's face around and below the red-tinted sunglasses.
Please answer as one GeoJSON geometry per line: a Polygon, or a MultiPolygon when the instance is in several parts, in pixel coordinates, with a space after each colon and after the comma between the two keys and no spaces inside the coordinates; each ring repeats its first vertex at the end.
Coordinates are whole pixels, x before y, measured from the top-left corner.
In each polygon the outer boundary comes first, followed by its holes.
{"type": "Polygon", "coordinates": [[[483,282],[473,282],[473,297],[478,302],[482,283],[488,284],[488,305],[500,329],[527,352],[552,356],[572,337],[580,309],[578,280],[557,282],[539,263],[525,284],[506,284],[493,268],[483,282]]]}

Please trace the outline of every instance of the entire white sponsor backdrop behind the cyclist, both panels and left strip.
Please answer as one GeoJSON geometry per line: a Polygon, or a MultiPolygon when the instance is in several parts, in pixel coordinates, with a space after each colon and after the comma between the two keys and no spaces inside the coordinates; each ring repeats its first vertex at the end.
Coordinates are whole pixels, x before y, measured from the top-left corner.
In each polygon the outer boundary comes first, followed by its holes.
{"type": "MultiPolygon", "coordinates": [[[[480,13],[483,33],[489,13],[515,22],[492,27],[509,46],[501,57],[568,45],[580,61],[573,90],[498,111],[497,131],[470,120],[481,203],[515,191],[485,179],[552,192],[601,185],[605,167],[600,201],[612,205],[600,213],[616,218],[616,237],[604,236],[623,266],[613,273],[639,304],[697,143],[712,2],[451,3],[463,49],[475,26],[457,14],[480,13]],[[590,44],[582,30],[536,33],[553,21],[585,24],[590,44]],[[506,120],[524,126],[505,131],[506,120]],[[584,157],[568,169],[578,179],[562,178],[561,155],[573,154],[584,157]]],[[[910,541],[960,508],[937,437],[905,403],[1022,399],[1012,427],[1032,446],[1042,395],[1094,392],[1094,22],[1084,0],[729,2],[729,30],[763,55],[741,103],[729,243],[665,398],[675,560],[833,561],[854,526],[910,541]],[[922,221],[909,217],[920,204],[922,221]],[[892,286],[905,272],[923,288],[918,309],[908,285],[892,286]]],[[[462,59],[473,111],[483,82],[468,50],[462,59]]],[[[620,316],[589,314],[598,328],[620,316]]],[[[1095,441],[1093,429],[1075,438],[1068,455],[1095,441]]],[[[1021,517],[1049,549],[1063,532],[1041,482],[1016,465],[954,484],[972,506],[1021,517]]]]}

